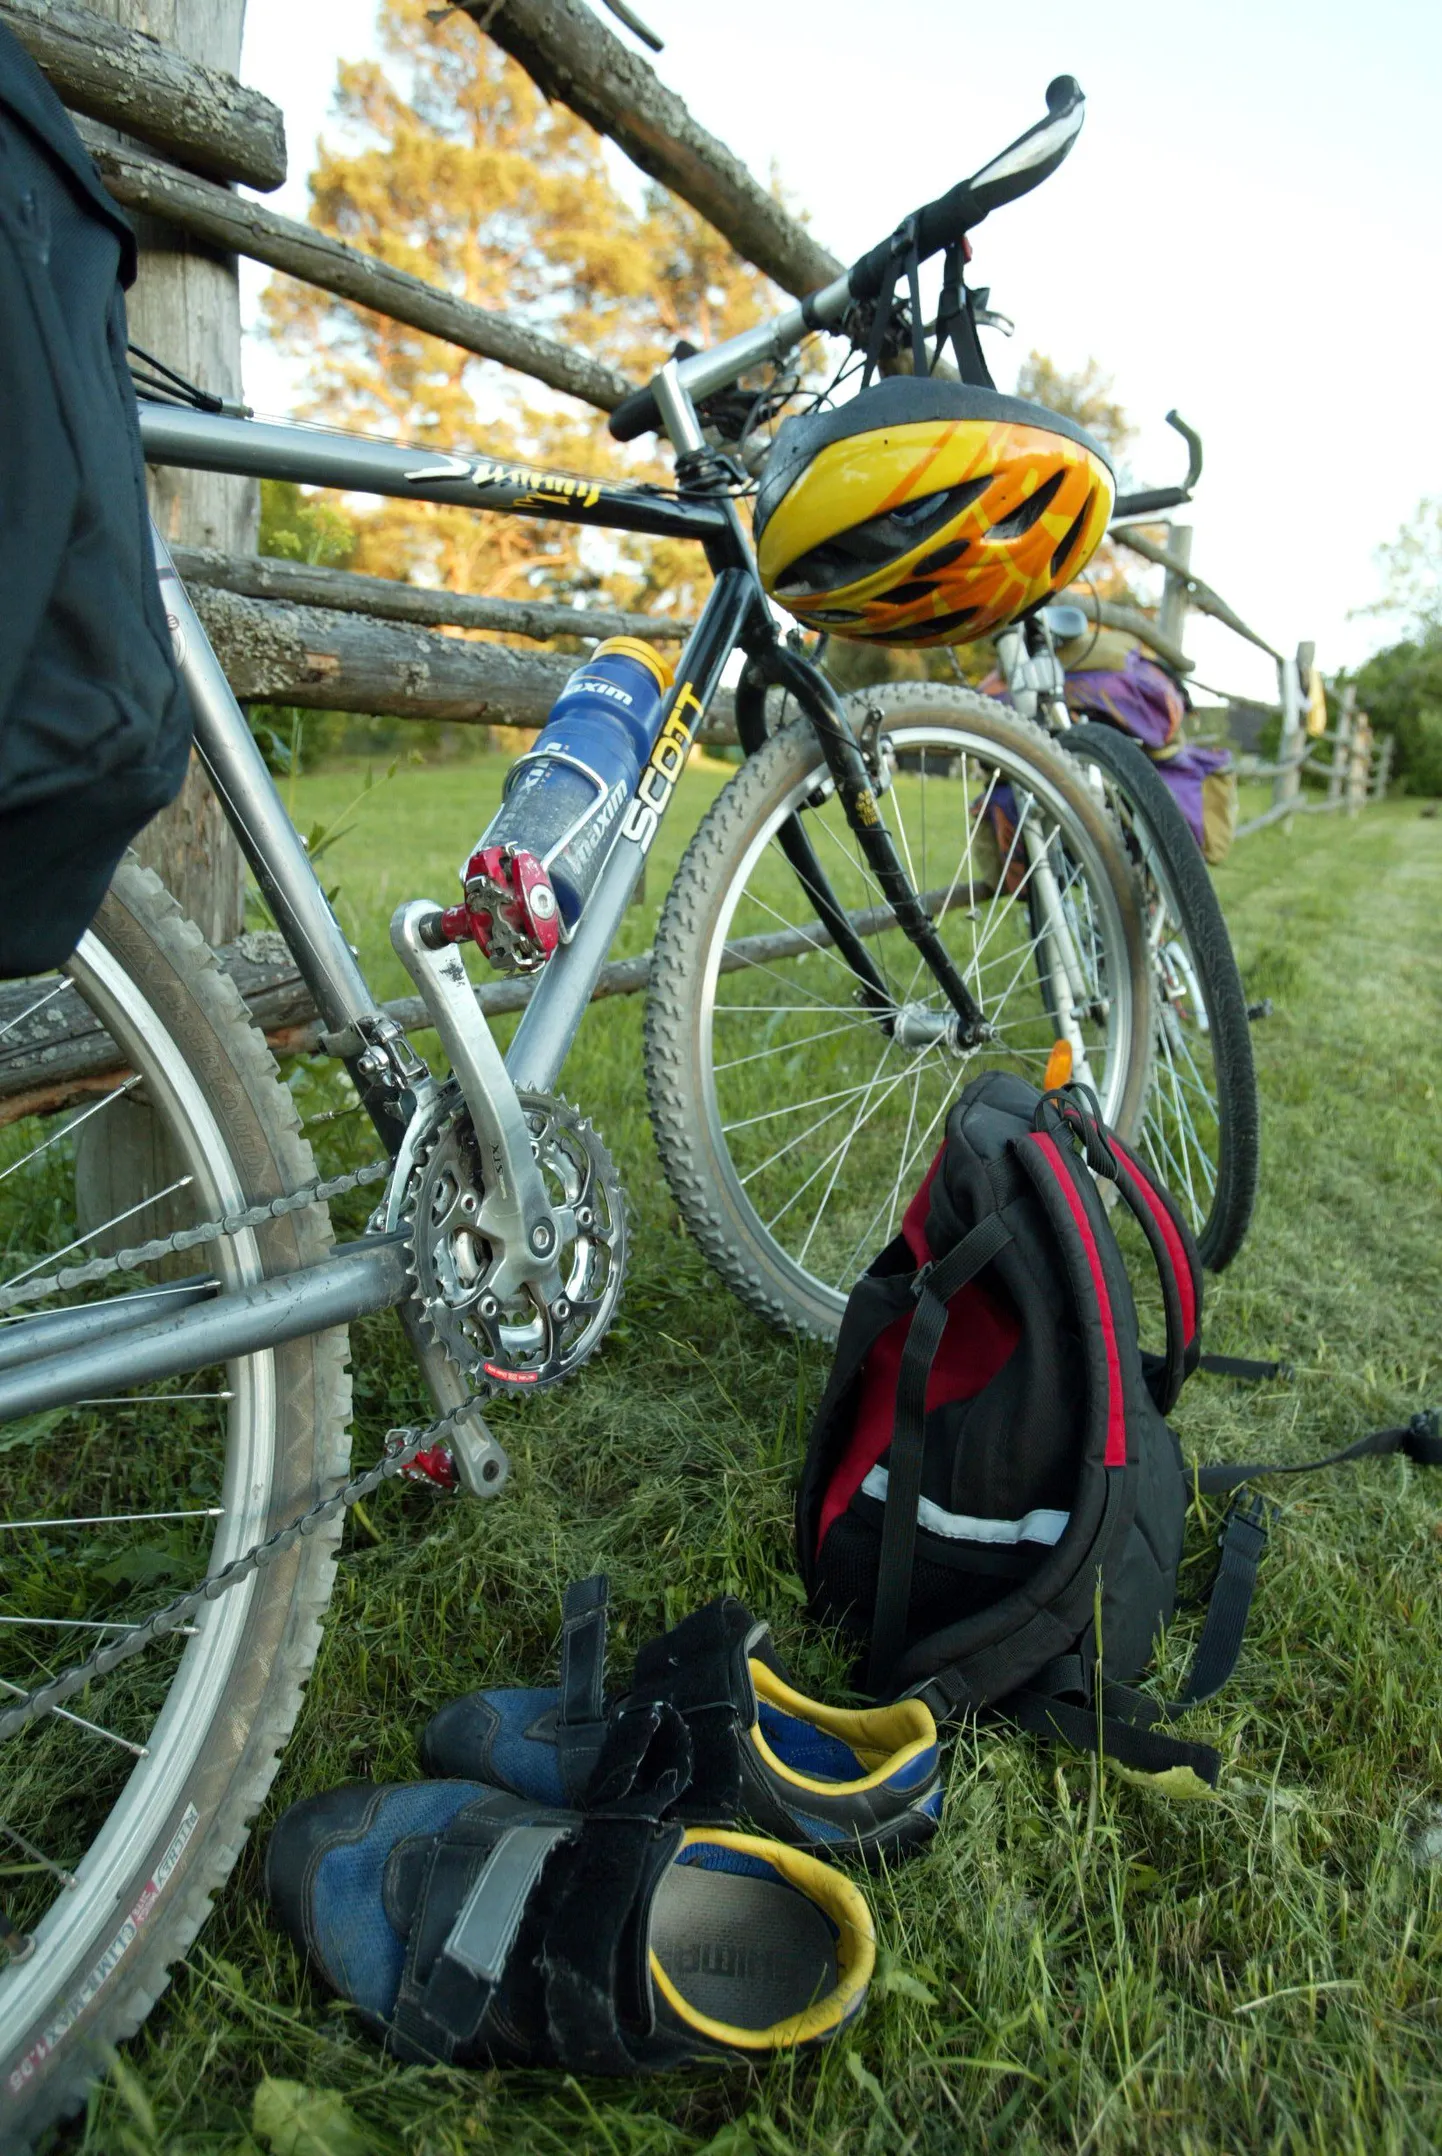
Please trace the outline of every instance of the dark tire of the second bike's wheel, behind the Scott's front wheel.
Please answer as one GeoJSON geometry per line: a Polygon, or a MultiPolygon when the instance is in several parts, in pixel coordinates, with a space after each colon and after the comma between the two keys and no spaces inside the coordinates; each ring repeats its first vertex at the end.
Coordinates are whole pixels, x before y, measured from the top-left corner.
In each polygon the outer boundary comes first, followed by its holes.
{"type": "MultiPolygon", "coordinates": [[[[1145,821],[1147,845],[1168,886],[1168,903],[1201,985],[1211,1031],[1220,1145],[1211,1203],[1205,1210],[1198,1207],[1201,1218],[1194,1218],[1192,1225],[1203,1266],[1209,1272],[1222,1272],[1246,1238],[1261,1173],[1261,1106],[1252,1028],[1226,918],[1181,808],[1136,742],[1095,720],[1067,727],[1058,740],[1067,755],[1082,763],[1095,763],[1125,798],[1127,813],[1145,821]]],[[[1164,1018],[1166,1013],[1157,1009],[1157,1024],[1164,1024],[1164,1018]]],[[[1157,1112],[1164,1082],[1164,1054],[1157,1050],[1145,1132],[1157,1112]]],[[[1168,1175],[1162,1147],[1153,1151],[1153,1164],[1173,1184],[1173,1192],[1181,1197],[1175,1188],[1177,1175],[1168,1175]]]]}

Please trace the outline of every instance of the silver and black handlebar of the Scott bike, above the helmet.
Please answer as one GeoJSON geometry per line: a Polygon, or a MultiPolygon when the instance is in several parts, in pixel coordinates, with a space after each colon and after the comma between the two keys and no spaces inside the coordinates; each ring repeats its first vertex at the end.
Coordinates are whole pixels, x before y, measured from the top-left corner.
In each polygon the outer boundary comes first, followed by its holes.
{"type": "MultiPolygon", "coordinates": [[[[800,345],[810,330],[826,330],[843,321],[856,300],[875,300],[888,272],[912,246],[923,261],[929,254],[940,254],[1002,203],[1015,203],[1022,194],[1039,188],[1069,153],[1086,116],[1086,99],[1076,75],[1056,75],[1048,84],[1045,101],[1045,119],[1017,136],[1000,157],[992,157],[970,179],[938,196],[935,203],[927,203],[821,291],[808,293],[776,321],[744,330],[739,336],[726,338],[724,345],[716,345],[713,351],[683,358],[679,364],[681,386],[701,399],[735,382],[748,367],[780,358],[800,345]]],[[[608,425],[616,442],[634,442],[640,433],[660,431],[662,414],[651,386],[623,397],[608,425]]]]}

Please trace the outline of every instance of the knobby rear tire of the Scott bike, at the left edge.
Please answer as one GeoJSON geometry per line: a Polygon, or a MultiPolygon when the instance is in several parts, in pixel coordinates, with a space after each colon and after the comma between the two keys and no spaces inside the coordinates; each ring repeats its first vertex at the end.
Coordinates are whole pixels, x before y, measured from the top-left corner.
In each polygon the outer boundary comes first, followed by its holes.
{"type": "MultiPolygon", "coordinates": [[[[185,1130],[209,1132],[194,1145],[209,1149],[207,1175],[216,1186],[228,1179],[250,1203],[313,1177],[310,1147],[265,1039],[200,931],[155,875],[134,860],[119,869],[71,970],[91,981],[88,990],[82,985],[91,1007],[97,994],[125,1003],[131,1039],[119,1022],[110,1031],[142,1076],[140,1097],[172,1100],[164,1089],[181,1089],[183,1112],[192,1117],[185,1130]]],[[[235,1259],[207,1253],[207,1266],[241,1266],[252,1279],[285,1274],[321,1259],[330,1242],[328,1214],[317,1205],[254,1231],[235,1259]]],[[[263,1464],[267,1479],[254,1494],[248,1488],[233,1494],[237,1520],[218,1529],[213,1561],[233,1554],[222,1535],[248,1531],[256,1516],[265,1533],[343,1479],[345,1354],[345,1330],[332,1330],[228,1365],[226,1384],[244,1410],[226,1410],[226,1488],[237,1460],[256,1475],[263,1464]]],[[[80,2109],[103,2070],[106,2048],[140,2027],[200,1930],[300,1712],[338,1537],[336,1520],[209,1606],[177,1660],[166,1708],[149,1736],[151,1759],[134,1768],[106,1824],[95,1828],[78,1865],[80,1887],[56,1897],[30,1958],[0,1968],[6,2150],[26,2147],[47,2124],[80,2109]],[[172,1714],[181,1705],[185,1714],[172,1714]],[[106,1854],[121,1805],[129,1807],[127,1830],[121,1835],[116,1826],[116,1848],[106,1854]]],[[[86,1701],[82,1695],[78,1705],[86,1701]]],[[[0,1751],[28,1742],[30,1731],[22,1731],[0,1751]]]]}

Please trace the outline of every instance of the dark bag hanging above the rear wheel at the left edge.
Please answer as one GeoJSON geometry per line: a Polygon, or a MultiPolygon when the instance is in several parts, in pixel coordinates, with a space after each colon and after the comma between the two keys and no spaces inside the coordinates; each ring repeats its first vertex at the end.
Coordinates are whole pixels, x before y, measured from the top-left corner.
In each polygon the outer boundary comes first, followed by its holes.
{"type": "Polygon", "coordinates": [[[181,787],[123,282],[134,235],[0,24],[0,977],[58,966],[181,787]]]}

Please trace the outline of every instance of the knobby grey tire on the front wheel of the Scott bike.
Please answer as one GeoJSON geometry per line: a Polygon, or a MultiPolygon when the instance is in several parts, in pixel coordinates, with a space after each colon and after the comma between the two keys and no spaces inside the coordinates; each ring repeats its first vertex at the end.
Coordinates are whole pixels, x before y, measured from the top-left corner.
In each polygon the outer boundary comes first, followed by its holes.
{"type": "MultiPolygon", "coordinates": [[[[1104,804],[1097,800],[1093,787],[1089,787],[1082,772],[1071,765],[1071,759],[1063,757],[1052,746],[1039,727],[1020,720],[1004,705],[959,686],[953,688],[948,683],[929,681],[888,683],[884,688],[856,692],[849,699],[849,707],[851,720],[858,729],[869,714],[879,709],[884,737],[892,740],[892,744],[901,748],[903,770],[905,757],[912,757],[912,770],[920,768],[923,783],[927,770],[942,770],[946,757],[953,759],[946,765],[953,772],[948,785],[959,789],[948,798],[951,808],[946,811],[953,819],[953,830],[963,834],[968,828],[974,830],[981,821],[972,815],[972,780],[968,780],[972,763],[968,763],[968,757],[974,759],[976,772],[987,768],[989,757],[998,759],[994,765],[996,770],[1002,768],[1000,759],[1007,759],[1007,768],[1017,774],[1017,780],[1030,780],[1037,789],[1035,798],[1043,802],[1045,815],[1054,817],[1056,828],[1067,832],[1086,856],[1086,888],[1091,890],[1095,882],[1097,908],[1106,912],[1110,923],[1110,951],[1106,966],[1112,968],[1117,979],[1114,1007],[1106,1020],[1112,1028],[1108,1033],[1108,1112],[1117,1128],[1132,1134],[1147,1095],[1151,1054],[1151,975],[1142,938],[1136,880],[1127,865],[1121,832],[1106,813],[1104,804]],[[903,744],[907,742],[920,742],[923,748],[905,748],[903,744]],[[925,761],[916,765],[918,755],[923,759],[933,757],[940,761],[933,765],[927,765],[925,761]],[[957,770],[959,778],[955,776],[957,770]]],[[[860,1235],[854,1263],[847,1255],[836,1279],[823,1276],[815,1270],[808,1272],[804,1263],[808,1257],[806,1248],[798,1259],[782,1246],[772,1229],[767,1229],[759,1201],[752,1203],[752,1197],[748,1194],[748,1177],[737,1153],[737,1143],[741,1141],[726,1136],[722,1130],[718,1074],[726,1069],[726,1059],[716,1048],[716,1026],[720,1022],[722,1003],[716,983],[720,979],[741,979],[737,972],[726,972],[720,962],[722,957],[731,957],[735,962],[731,921],[744,916],[746,912],[741,901],[752,888],[752,862],[757,877],[761,877],[763,869],[767,875],[772,873],[772,869],[765,867],[772,860],[765,847],[774,845],[774,839],[769,839],[767,832],[778,828],[776,819],[785,813],[785,804],[789,800],[800,800],[804,806],[815,808],[819,796],[810,796],[808,787],[819,785],[823,778],[826,765],[815,735],[804,720],[795,720],[774,733],[769,742],[741,765],[703,819],[681,869],[677,871],[677,880],[657,925],[655,957],[647,996],[647,1089],[651,1100],[651,1123],[666,1179],[685,1227],[711,1261],[713,1270],[769,1324],[813,1335],[817,1339],[834,1339],[849,1285],[864,1270],[882,1242],[888,1240],[888,1235],[879,1229],[871,1242],[860,1235]],[[729,942],[731,949],[722,949],[729,942]],[[849,1279],[845,1276],[847,1268],[851,1268],[849,1279]]],[[[897,817],[907,813],[905,808],[890,811],[888,793],[882,796],[882,811],[895,813],[897,817]]],[[[914,817],[914,808],[910,813],[914,817]]],[[[802,815],[802,821],[808,821],[808,817],[802,815]]],[[[920,847],[916,830],[907,837],[914,852],[912,880],[927,882],[929,877],[920,873],[925,867],[925,824],[920,847]]],[[[938,843],[944,847],[944,841],[938,843]]],[[[970,860],[972,841],[961,837],[961,843],[966,845],[966,858],[970,860]]],[[[830,860],[832,854],[828,852],[828,862],[830,860]]],[[[791,871],[785,873],[791,875],[791,871]]],[[[780,890],[780,884],[767,888],[780,890]]],[[[761,882],[757,882],[757,890],[761,890],[761,882]]],[[[802,899],[800,880],[795,880],[795,875],[791,875],[791,893],[793,903],[804,908],[806,901],[802,899]]],[[[948,903],[951,901],[942,903],[942,916],[948,914],[948,903]]],[[[996,936],[998,931],[998,901],[992,897],[987,903],[992,906],[992,912],[972,910],[963,916],[966,921],[979,923],[979,949],[974,951],[974,964],[981,968],[979,979],[983,983],[987,979],[985,968],[994,964],[992,957],[983,959],[987,936],[996,936]]],[[[1007,899],[1002,899],[1002,912],[1004,910],[1007,899]]],[[[765,908],[761,908],[757,918],[765,925],[765,908]]],[[[780,918],[780,914],[776,918],[780,918]]],[[[795,921],[802,918],[810,918],[815,927],[815,916],[798,912],[795,921]]],[[[737,929],[735,936],[739,938],[739,934],[741,931],[737,929]]],[[[953,934],[966,936],[966,929],[955,929],[953,934]]],[[[1015,934],[1015,929],[1009,929],[1009,934],[1015,934]]],[[[877,942],[871,949],[875,951],[879,944],[882,936],[877,934],[877,942]]],[[[895,929],[892,918],[892,953],[897,944],[899,929],[895,929]]],[[[1022,951],[1022,959],[1024,957],[1026,951],[1022,951]]],[[[905,946],[901,951],[901,962],[907,972],[912,972],[914,959],[916,953],[905,946]]],[[[959,951],[957,962],[963,964],[963,959],[966,951],[959,951]]],[[[856,1013],[847,1005],[847,998],[851,998],[854,1005],[856,987],[849,972],[843,970],[841,981],[836,981],[834,972],[828,972],[828,968],[841,964],[834,959],[834,953],[830,957],[813,957],[810,953],[804,953],[804,962],[813,966],[813,979],[826,975],[826,990],[834,996],[836,1033],[845,1033],[854,1020],[866,1022],[864,1011],[856,1013]]],[[[895,957],[888,962],[895,964],[895,957]]],[[[927,981],[923,979],[923,987],[925,985],[927,981]]],[[[798,994],[795,990],[789,992],[798,994]]],[[[815,996],[815,990],[800,994],[815,996]]],[[[910,987],[907,994],[912,994],[910,987]]],[[[778,1009],[785,1011],[795,1011],[800,1007],[800,1003],[787,1003],[782,990],[776,992],[776,1000],[778,1009]]],[[[940,1003],[940,998],[935,1000],[940,1003]]],[[[757,1009],[765,1007],[759,1005],[757,1009]]],[[[750,1015],[750,1011],[741,1011],[741,1018],[746,1015],[750,1015]]],[[[810,1007],[806,1007],[804,1015],[810,1018],[810,1007]]],[[[1045,1018],[1045,1013],[1041,1015],[1045,1018]]],[[[791,1024],[793,1020],[782,1015],[782,1031],[791,1024]]],[[[871,1024],[875,1033],[875,1020],[871,1020],[871,1024]]],[[[823,1026],[817,1026],[810,1039],[800,1039],[793,1063],[804,1063],[810,1069],[808,1059],[815,1052],[815,1044],[823,1039],[823,1026]]],[[[851,1039],[856,1041],[856,1054],[860,1054],[862,1035],[854,1033],[851,1039]]],[[[774,1050],[765,1052],[774,1054],[774,1050]]],[[[1028,1050],[1028,1054],[1032,1054],[1032,1063],[1026,1065],[1028,1076],[1041,1082],[1043,1065],[1048,1061],[1045,1044],[1041,1052],[1028,1050]]],[[[737,1061],[746,1063],[750,1059],[739,1056],[737,1061]]],[[[933,1093],[927,1097],[927,1108],[931,1110],[935,1102],[955,1097],[968,1078],[976,1076],[983,1067],[987,1067],[987,1063],[994,1061],[1007,1061],[1000,1048],[983,1048],[976,1054],[953,1054],[948,1065],[929,1069],[927,1084],[933,1093]]],[[[940,1063],[942,1052],[938,1050],[938,1065],[940,1063]]],[[[1011,1063],[1009,1067],[1017,1065],[1011,1063]]],[[[903,1082],[905,1076],[907,1074],[903,1072],[903,1082]]],[[[776,1084],[780,1087],[782,1082],[785,1072],[778,1072],[776,1084]]],[[[873,1080],[873,1084],[879,1087],[882,1080],[873,1080]]],[[[890,1080],[886,1080],[886,1084],[890,1084],[890,1080]]],[[[912,1108],[916,1106],[918,1087],[920,1078],[914,1078],[912,1108]]],[[[860,1117],[860,1110],[866,1106],[871,1095],[864,1093],[862,1087],[851,1087],[851,1091],[860,1095],[860,1106],[856,1110],[860,1117]]],[[[826,1091],[819,1093],[821,1102],[828,1097],[832,1095],[826,1091]]],[[[806,1104],[802,1102],[802,1106],[806,1104]]],[[[769,1112],[772,1106],[767,1106],[767,1100],[761,1100],[759,1110],[750,1117],[750,1121],[765,1123],[769,1112]]],[[[789,1110],[776,1108],[776,1112],[780,1115],[789,1110]]],[[[802,1110],[798,1108],[795,1112],[802,1110]]],[[[901,1112],[901,1104],[897,1104],[895,1112],[901,1112]]],[[[942,1108],[935,1108],[935,1115],[940,1112],[942,1108]]],[[[905,1190],[892,1192],[892,1197],[905,1199],[920,1184],[929,1158],[940,1145],[940,1123],[935,1123],[935,1115],[931,1115],[929,1121],[923,1119],[920,1112],[916,1115],[916,1143],[925,1138],[925,1158],[918,1156],[916,1160],[907,1160],[905,1147],[914,1143],[914,1130],[912,1123],[905,1123],[899,1171],[905,1169],[910,1184],[905,1190]]],[[[821,1108],[821,1119],[826,1121],[826,1108],[821,1108]]],[[[890,1160],[886,1166],[890,1173],[890,1160]]],[[[802,1171],[798,1169],[795,1173],[800,1177],[802,1171]]],[[[862,1190],[854,1218],[864,1222],[866,1203],[869,1194],[862,1190]]],[[[888,1222],[892,1227],[895,1212],[897,1205],[892,1203],[892,1212],[888,1214],[888,1222]]],[[[832,1259],[834,1253],[828,1253],[828,1268],[832,1259]]]]}

